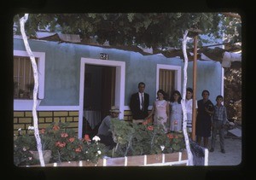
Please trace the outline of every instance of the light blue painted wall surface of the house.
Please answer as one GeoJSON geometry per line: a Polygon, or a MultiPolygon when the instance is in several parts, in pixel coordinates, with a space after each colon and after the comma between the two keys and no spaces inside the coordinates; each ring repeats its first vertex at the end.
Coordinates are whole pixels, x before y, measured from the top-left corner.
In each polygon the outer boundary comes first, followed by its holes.
{"type": "MultiPolygon", "coordinates": [[[[82,57],[99,59],[100,53],[107,53],[108,60],[125,61],[125,106],[130,96],[137,91],[137,84],[143,81],[154,102],[156,84],[156,64],[176,65],[183,68],[179,58],[166,58],[163,55],[141,55],[137,52],[120,49],[104,49],[81,44],[59,44],[30,40],[32,51],[45,52],[45,91],[40,106],[78,106],[79,76],[82,57]]],[[[15,38],[14,49],[26,50],[22,39],[15,38]]],[[[188,85],[192,87],[193,64],[188,66],[188,85]]],[[[183,77],[183,71],[182,71],[183,77]]],[[[183,85],[183,82],[182,82],[183,85]]],[[[221,65],[216,61],[197,62],[197,99],[201,99],[201,91],[210,91],[210,99],[221,93],[221,65]]]]}

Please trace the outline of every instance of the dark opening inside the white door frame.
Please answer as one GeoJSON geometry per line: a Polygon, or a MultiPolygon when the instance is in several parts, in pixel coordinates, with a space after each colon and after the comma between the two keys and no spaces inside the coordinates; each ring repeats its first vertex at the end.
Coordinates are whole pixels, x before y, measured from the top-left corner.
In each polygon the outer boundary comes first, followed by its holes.
{"type": "Polygon", "coordinates": [[[114,105],[116,67],[84,65],[83,135],[95,136],[114,105]]]}

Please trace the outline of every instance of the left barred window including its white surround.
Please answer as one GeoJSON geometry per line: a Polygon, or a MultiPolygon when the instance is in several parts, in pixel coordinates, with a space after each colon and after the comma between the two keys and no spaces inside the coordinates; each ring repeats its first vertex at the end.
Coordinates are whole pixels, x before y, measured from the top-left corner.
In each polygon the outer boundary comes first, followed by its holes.
{"type": "MultiPolygon", "coordinates": [[[[45,53],[33,52],[38,65],[38,104],[44,99],[45,53]]],[[[29,55],[24,50],[14,50],[14,110],[32,110],[33,70],[29,55]],[[30,89],[31,88],[31,89],[30,89]],[[23,92],[23,95],[20,95],[23,92]]]]}

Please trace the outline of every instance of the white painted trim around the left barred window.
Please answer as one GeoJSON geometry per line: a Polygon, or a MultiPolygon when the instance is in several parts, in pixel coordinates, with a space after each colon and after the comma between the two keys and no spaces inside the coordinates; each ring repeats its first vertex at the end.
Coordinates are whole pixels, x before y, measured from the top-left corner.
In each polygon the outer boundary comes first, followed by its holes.
{"type": "MultiPolygon", "coordinates": [[[[32,52],[38,58],[38,99],[44,99],[44,74],[45,74],[45,53],[32,52]]],[[[14,50],[14,56],[29,57],[25,50],[14,50]]],[[[38,106],[41,101],[38,101],[38,106]]],[[[32,110],[33,100],[14,100],[14,110],[32,110]]]]}

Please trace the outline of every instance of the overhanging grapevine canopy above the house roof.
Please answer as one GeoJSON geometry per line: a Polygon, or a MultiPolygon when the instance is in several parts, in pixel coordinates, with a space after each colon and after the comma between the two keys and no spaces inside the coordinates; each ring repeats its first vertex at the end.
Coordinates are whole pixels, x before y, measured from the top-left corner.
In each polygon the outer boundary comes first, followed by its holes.
{"type": "MultiPolygon", "coordinates": [[[[20,17],[14,18],[18,26],[20,17]]],[[[110,45],[139,44],[164,49],[179,48],[183,32],[190,28],[218,38],[219,24],[224,20],[218,13],[30,14],[26,31],[34,35],[38,29],[49,29],[50,32],[79,34],[82,39],[94,37],[99,44],[108,41],[110,45]]],[[[234,20],[232,25],[239,30],[241,23],[235,24],[234,20]]],[[[231,27],[223,31],[229,32],[231,27]]]]}

